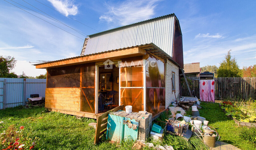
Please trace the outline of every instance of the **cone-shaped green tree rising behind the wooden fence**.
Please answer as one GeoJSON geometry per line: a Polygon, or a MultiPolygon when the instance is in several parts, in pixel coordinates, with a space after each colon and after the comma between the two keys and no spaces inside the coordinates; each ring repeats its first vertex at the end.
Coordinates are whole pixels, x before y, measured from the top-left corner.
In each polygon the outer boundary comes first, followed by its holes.
{"type": "Polygon", "coordinates": [[[217,70],[218,77],[241,77],[242,71],[239,69],[236,58],[231,56],[231,50],[225,55],[225,60],[220,62],[217,70]]]}

